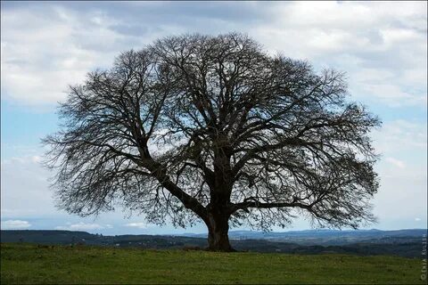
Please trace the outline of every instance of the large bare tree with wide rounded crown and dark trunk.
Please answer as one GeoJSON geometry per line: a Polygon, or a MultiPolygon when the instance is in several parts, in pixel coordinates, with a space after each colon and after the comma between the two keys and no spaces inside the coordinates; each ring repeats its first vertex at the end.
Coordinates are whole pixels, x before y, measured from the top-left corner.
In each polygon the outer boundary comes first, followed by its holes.
{"type": "Polygon", "coordinates": [[[371,222],[368,134],[380,121],[346,97],[342,73],[240,34],[122,53],[70,87],[62,129],[44,140],[57,203],[81,216],[121,204],[156,224],[201,219],[209,248],[224,251],[229,224],[371,222]]]}

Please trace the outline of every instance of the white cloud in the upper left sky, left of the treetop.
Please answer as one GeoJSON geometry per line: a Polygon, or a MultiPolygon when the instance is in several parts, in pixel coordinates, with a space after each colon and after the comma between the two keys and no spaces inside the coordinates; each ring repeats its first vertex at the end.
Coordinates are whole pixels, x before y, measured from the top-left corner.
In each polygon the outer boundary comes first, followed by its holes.
{"type": "Polygon", "coordinates": [[[110,65],[131,48],[127,37],[106,26],[113,20],[91,16],[61,6],[2,12],[3,96],[30,105],[54,104],[65,98],[68,85],[81,83],[86,72],[110,65]]]}

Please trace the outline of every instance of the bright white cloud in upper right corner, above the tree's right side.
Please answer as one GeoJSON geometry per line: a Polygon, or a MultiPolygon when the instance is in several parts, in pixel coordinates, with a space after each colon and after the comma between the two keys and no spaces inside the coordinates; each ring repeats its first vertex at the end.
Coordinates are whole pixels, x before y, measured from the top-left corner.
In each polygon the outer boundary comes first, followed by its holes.
{"type": "Polygon", "coordinates": [[[346,71],[358,98],[426,108],[426,18],[422,2],[292,2],[272,5],[272,20],[250,34],[274,51],[346,71]]]}

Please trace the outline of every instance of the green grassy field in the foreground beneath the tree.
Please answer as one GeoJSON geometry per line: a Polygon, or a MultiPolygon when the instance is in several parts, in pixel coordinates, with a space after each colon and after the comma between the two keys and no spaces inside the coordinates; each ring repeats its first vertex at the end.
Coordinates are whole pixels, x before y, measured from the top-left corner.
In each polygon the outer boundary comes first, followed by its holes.
{"type": "Polygon", "coordinates": [[[424,283],[422,259],[1,245],[11,283],[424,283]]]}

